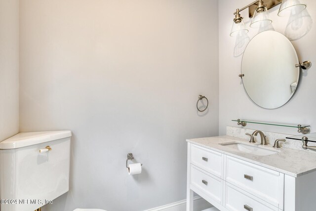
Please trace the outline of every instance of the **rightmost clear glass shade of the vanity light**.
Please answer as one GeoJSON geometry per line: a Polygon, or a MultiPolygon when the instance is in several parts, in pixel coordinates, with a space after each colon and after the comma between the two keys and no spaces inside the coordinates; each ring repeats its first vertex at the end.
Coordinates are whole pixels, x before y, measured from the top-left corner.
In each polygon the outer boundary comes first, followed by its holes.
{"type": "Polygon", "coordinates": [[[300,0],[282,0],[277,15],[281,17],[295,15],[305,8],[306,4],[301,3],[300,0]]]}

